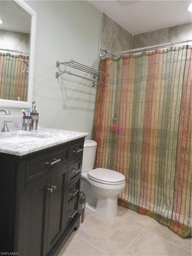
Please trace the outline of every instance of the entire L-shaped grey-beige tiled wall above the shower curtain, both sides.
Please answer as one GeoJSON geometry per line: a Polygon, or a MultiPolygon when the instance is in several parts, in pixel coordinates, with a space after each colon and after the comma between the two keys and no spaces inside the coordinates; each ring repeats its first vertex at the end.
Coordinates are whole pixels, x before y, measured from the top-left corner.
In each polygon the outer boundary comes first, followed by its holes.
{"type": "Polygon", "coordinates": [[[133,36],[103,13],[100,47],[108,52],[115,53],[190,38],[192,38],[191,23],[153,30],[133,36]]]}

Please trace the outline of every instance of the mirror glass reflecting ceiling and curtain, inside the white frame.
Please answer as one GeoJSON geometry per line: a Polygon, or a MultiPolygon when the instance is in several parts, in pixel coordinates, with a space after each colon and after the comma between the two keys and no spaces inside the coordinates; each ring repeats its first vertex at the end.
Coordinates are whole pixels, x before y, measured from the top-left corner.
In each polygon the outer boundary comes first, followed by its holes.
{"type": "Polygon", "coordinates": [[[0,99],[27,101],[31,15],[0,1],[0,99]]]}

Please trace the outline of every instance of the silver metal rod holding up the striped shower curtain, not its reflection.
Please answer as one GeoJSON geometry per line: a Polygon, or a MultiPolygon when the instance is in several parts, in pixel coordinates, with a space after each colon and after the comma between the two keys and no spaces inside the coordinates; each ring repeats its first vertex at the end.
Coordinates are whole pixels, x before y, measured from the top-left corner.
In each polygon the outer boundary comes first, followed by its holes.
{"type": "Polygon", "coordinates": [[[104,54],[104,55],[99,54],[99,57],[102,58],[102,57],[105,57],[105,56],[122,54],[122,53],[126,53],[126,52],[130,53],[130,52],[135,52],[135,51],[149,50],[149,49],[152,49],[152,48],[158,48],[158,47],[168,46],[168,45],[172,45],[172,44],[187,43],[187,42],[191,42],[191,41],[192,41],[192,39],[186,39],[186,40],[170,42],[170,43],[165,43],[165,44],[156,44],[156,45],[152,45],[152,46],[146,46],[146,47],[131,49],[131,50],[123,51],[123,52],[115,52],[115,53],[109,53],[109,54],[104,54]]]}

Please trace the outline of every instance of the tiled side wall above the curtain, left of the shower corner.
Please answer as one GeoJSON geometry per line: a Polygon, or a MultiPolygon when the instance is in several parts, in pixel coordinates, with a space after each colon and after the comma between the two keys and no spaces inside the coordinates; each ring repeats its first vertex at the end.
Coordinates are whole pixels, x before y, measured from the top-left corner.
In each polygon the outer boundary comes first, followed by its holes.
{"type": "Polygon", "coordinates": [[[131,49],[132,34],[103,13],[100,47],[108,52],[131,49]]]}

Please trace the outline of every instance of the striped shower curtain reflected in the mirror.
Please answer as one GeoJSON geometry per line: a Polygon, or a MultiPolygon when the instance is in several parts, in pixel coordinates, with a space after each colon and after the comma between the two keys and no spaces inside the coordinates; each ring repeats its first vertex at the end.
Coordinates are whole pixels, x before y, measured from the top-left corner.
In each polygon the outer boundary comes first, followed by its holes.
{"type": "Polygon", "coordinates": [[[0,53],[0,99],[27,101],[28,70],[26,63],[21,59],[29,60],[29,56],[0,53]]]}

